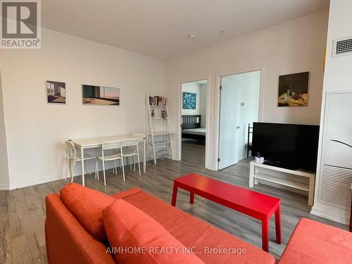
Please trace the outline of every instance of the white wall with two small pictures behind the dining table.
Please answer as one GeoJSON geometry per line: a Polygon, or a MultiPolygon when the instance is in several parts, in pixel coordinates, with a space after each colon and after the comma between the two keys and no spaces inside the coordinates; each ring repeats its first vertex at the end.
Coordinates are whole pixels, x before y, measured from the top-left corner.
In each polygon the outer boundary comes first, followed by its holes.
{"type": "Polygon", "coordinates": [[[163,62],[51,30],[0,58],[11,189],[62,178],[65,139],[144,132],[146,92],[164,93],[163,62]],[[66,83],[66,105],[46,103],[46,80],[66,83]],[[83,106],[82,84],[119,87],[120,106],[83,106]]]}

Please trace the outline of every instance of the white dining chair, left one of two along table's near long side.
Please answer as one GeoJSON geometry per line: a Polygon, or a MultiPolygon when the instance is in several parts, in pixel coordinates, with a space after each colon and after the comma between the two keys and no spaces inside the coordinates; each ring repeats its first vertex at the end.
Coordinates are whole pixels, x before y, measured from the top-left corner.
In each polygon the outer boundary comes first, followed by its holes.
{"type": "Polygon", "coordinates": [[[123,168],[123,159],[122,159],[122,140],[113,141],[113,142],[103,142],[101,147],[101,156],[98,158],[103,162],[104,186],[106,186],[106,177],[105,177],[106,161],[113,161],[113,172],[115,172],[115,174],[118,174],[117,162],[118,160],[121,160],[123,181],[125,182],[125,169],[123,168]]]}

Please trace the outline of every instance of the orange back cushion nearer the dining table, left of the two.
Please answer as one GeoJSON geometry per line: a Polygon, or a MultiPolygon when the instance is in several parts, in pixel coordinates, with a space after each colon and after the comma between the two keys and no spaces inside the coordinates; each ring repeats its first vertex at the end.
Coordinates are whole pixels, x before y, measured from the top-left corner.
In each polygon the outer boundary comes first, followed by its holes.
{"type": "Polygon", "coordinates": [[[80,184],[70,183],[60,190],[65,206],[94,237],[106,240],[103,225],[103,209],[116,199],[80,184]]]}

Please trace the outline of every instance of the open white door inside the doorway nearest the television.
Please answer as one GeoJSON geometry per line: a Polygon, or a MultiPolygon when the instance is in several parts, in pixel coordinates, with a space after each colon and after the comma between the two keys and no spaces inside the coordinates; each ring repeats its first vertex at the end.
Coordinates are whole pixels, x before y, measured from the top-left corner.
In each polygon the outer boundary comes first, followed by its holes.
{"type": "Polygon", "coordinates": [[[219,170],[234,165],[239,160],[237,142],[239,137],[240,90],[236,89],[234,80],[221,78],[220,90],[220,136],[219,136],[219,170]]]}

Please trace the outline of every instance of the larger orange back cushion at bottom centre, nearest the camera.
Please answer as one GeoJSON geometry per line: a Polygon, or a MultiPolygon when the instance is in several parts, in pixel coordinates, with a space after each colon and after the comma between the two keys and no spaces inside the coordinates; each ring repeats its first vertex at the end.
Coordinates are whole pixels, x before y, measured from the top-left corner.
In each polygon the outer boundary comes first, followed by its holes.
{"type": "Polygon", "coordinates": [[[103,222],[118,263],[203,263],[184,253],[180,241],[153,218],[122,199],[103,210],[103,222]]]}

